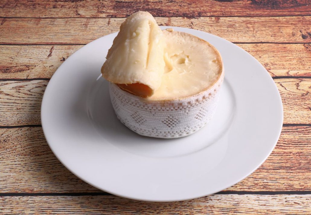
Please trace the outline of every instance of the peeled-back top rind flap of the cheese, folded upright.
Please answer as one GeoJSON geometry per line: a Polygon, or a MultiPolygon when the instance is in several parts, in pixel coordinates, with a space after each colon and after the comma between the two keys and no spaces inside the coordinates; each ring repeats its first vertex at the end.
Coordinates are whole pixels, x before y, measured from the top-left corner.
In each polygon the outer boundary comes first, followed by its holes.
{"type": "Polygon", "coordinates": [[[101,68],[105,79],[147,97],[161,85],[164,73],[163,33],[153,16],[138,11],[120,26],[101,68]]]}

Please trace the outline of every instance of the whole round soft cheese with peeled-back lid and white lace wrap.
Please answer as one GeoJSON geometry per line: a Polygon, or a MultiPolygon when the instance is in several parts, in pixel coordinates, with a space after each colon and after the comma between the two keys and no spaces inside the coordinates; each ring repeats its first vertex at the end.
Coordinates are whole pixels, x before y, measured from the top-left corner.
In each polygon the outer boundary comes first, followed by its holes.
{"type": "Polygon", "coordinates": [[[137,134],[177,138],[213,117],[224,80],[222,59],[191,34],[161,31],[147,12],[121,25],[102,66],[118,119],[137,134]]]}

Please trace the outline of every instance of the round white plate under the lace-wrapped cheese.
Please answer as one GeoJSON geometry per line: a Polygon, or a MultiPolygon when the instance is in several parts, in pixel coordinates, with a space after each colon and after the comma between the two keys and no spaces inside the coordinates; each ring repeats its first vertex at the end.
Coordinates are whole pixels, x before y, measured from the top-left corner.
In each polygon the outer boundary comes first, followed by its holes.
{"type": "Polygon", "coordinates": [[[224,61],[216,115],[193,135],[148,138],[117,120],[107,82],[97,80],[117,33],[79,49],[58,68],[45,90],[41,121],[49,146],[72,173],[101,190],[146,201],[213,194],[256,170],[279,138],[282,102],[265,68],[225,39],[171,28],[207,40],[224,61]]]}

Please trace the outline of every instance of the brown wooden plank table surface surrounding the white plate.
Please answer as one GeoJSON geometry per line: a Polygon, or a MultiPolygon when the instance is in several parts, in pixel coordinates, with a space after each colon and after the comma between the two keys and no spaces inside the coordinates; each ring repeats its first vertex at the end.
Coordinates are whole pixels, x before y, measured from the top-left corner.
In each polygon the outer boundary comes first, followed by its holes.
{"type": "Polygon", "coordinates": [[[0,213],[311,214],[311,0],[2,0],[0,17],[0,213]],[[283,130],[267,161],[243,181],[190,201],[140,202],[86,184],[50,150],[40,122],[50,77],[137,10],[160,25],[228,39],[271,74],[283,130]]]}

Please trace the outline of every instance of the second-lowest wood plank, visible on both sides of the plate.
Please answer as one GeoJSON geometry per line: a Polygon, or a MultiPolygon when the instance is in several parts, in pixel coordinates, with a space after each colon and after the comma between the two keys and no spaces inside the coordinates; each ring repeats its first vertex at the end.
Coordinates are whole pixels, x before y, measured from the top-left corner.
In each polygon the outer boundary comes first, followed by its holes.
{"type": "MultiPolygon", "coordinates": [[[[0,193],[100,192],[54,156],[41,127],[0,129],[0,193]]],[[[311,126],[283,127],[267,161],[227,191],[311,192],[311,126]]]]}

